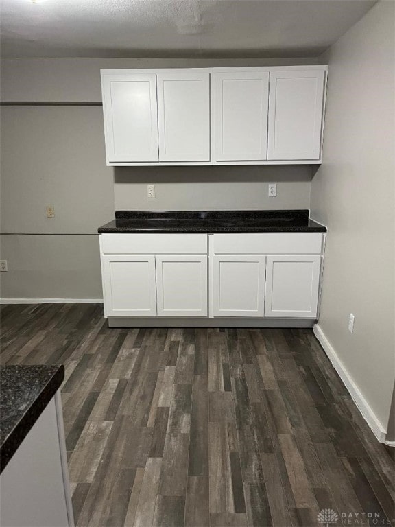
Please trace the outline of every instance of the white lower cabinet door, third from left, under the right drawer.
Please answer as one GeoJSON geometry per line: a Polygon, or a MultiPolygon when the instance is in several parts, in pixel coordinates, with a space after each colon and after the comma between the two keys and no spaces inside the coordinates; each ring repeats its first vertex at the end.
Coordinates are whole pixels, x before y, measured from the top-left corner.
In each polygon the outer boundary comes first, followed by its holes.
{"type": "Polygon", "coordinates": [[[213,316],[263,316],[265,256],[213,257],[213,316]]]}

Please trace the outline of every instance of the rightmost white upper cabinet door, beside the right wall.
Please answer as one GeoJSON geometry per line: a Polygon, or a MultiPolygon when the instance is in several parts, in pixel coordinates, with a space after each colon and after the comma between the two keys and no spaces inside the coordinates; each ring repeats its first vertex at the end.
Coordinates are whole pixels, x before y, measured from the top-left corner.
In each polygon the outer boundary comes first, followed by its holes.
{"type": "Polygon", "coordinates": [[[270,73],[267,159],[320,159],[325,72],[270,73]]]}

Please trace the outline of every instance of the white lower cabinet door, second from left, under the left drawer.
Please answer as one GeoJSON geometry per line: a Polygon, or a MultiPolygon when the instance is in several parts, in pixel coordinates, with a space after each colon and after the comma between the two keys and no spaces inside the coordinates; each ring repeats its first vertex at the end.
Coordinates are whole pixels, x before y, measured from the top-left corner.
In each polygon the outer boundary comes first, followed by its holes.
{"type": "Polygon", "coordinates": [[[158,316],[207,316],[207,257],[156,256],[158,316]]]}

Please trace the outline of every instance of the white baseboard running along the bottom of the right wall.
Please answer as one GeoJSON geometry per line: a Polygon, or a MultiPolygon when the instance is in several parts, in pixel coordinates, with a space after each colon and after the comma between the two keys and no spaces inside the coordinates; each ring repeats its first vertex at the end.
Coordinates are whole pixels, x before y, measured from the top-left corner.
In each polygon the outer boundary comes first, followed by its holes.
{"type": "MultiPolygon", "coordinates": [[[[339,356],[332,347],[331,342],[329,342],[329,340],[326,338],[324,332],[318,324],[313,326],[313,332],[315,337],[318,339],[318,342],[320,342],[322,348],[324,349],[326,355],[328,356],[328,359],[331,361],[333,367],[339,374],[340,379],[342,379],[342,382],[350,393],[352,400],[357,405],[357,408],[359,412],[361,412],[363,419],[365,419],[366,423],[368,423],[372,429],[373,434],[380,441],[380,443],[385,443],[385,436],[387,432],[383,428],[383,425],[381,425],[379,419],[377,419],[372,408],[370,408],[368,401],[366,401],[365,397],[363,397],[361,390],[359,390],[357,384],[355,384],[350,373],[348,373],[346,366],[344,366],[343,362],[339,359],[339,356]]],[[[390,445],[391,443],[394,443],[395,445],[394,441],[389,441],[387,444],[390,445]]]]}

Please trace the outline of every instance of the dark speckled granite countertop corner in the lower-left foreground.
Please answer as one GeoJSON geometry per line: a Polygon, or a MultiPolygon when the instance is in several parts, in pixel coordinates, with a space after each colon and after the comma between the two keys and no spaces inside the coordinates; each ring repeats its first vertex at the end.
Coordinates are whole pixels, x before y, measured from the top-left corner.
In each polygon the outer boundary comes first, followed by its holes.
{"type": "Polygon", "coordinates": [[[0,369],[0,473],[60,388],[64,366],[0,369]]]}

